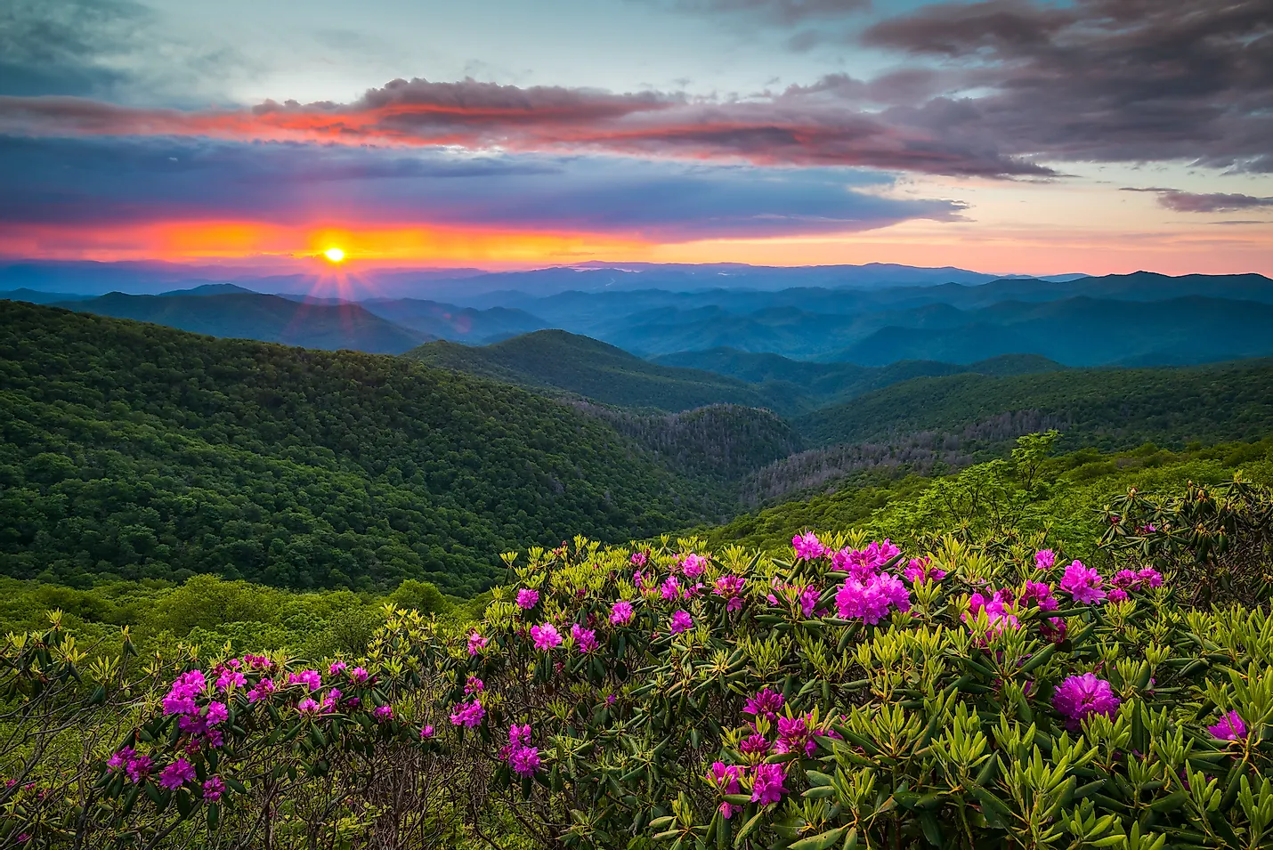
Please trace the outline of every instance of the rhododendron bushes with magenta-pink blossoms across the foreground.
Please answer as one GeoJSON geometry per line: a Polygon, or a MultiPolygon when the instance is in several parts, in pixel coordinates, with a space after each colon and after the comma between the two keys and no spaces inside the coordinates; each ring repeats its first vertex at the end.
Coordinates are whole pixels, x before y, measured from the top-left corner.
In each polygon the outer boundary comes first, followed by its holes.
{"type": "Polygon", "coordinates": [[[1267,583],[1198,608],[1160,520],[1099,568],[953,537],[577,538],[505,555],[471,627],[391,612],[362,659],[87,674],[55,627],[6,651],[8,710],[64,688],[46,716],[122,720],[52,770],[13,749],[0,837],[412,847],[502,812],[546,846],[1273,845],[1267,583]]]}

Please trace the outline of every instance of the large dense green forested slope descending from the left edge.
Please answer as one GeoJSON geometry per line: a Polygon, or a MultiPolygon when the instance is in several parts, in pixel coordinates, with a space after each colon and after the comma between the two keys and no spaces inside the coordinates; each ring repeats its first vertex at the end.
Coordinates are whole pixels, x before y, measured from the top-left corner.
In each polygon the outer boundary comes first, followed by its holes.
{"type": "Polygon", "coordinates": [[[715,515],[596,416],[401,358],[0,302],[0,565],[474,592],[495,554],[715,515]]]}

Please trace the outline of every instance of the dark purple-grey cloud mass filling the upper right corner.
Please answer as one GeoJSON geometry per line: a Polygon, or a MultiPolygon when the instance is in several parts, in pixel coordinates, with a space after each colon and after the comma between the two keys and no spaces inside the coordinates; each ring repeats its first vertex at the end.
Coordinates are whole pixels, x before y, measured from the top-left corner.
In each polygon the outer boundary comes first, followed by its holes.
{"type": "Polygon", "coordinates": [[[1273,171],[1273,0],[942,3],[861,41],[934,62],[1008,155],[1273,171]]]}

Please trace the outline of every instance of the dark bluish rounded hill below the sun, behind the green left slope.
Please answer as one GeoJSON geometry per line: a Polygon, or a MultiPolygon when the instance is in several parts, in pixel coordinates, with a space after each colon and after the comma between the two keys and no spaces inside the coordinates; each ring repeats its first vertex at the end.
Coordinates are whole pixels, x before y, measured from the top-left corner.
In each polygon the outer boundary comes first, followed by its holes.
{"type": "MultiPolygon", "coordinates": [[[[234,288],[238,289],[238,288],[234,288]]],[[[209,336],[261,340],[308,349],[401,354],[430,337],[374,316],[358,304],[312,304],[248,291],[125,295],[57,304],[113,318],[154,322],[209,336]]]]}

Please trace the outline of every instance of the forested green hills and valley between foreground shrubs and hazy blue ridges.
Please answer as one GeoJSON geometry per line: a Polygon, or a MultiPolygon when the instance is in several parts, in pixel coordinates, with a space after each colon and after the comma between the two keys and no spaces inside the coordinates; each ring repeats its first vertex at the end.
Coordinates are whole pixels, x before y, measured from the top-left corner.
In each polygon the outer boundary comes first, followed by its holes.
{"type": "MultiPolygon", "coordinates": [[[[283,335],[298,317],[354,327],[339,322],[356,307],[224,289],[94,300],[169,321],[182,304],[200,321],[238,312],[283,335]]],[[[363,310],[358,332],[410,345],[384,356],[210,338],[90,303],[0,300],[9,575],[474,592],[502,569],[491,552],[526,541],[651,536],[852,476],[938,475],[1049,428],[1067,449],[1273,434],[1273,359],[862,366],[710,349],[652,363],[560,330],[415,345],[363,310]]]]}

